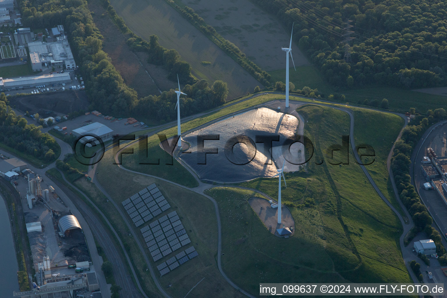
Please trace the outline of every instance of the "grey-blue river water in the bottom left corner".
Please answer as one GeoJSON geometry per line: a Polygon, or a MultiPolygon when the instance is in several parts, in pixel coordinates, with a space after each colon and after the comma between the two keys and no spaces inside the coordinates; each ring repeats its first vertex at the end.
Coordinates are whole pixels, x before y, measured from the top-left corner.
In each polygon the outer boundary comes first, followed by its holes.
{"type": "Polygon", "coordinates": [[[17,259],[14,250],[13,234],[8,217],[8,211],[3,197],[0,196],[0,285],[1,297],[13,297],[13,291],[19,290],[17,281],[17,259]]]}

